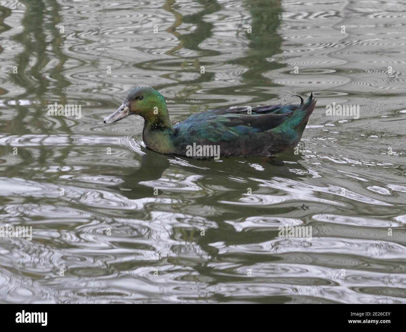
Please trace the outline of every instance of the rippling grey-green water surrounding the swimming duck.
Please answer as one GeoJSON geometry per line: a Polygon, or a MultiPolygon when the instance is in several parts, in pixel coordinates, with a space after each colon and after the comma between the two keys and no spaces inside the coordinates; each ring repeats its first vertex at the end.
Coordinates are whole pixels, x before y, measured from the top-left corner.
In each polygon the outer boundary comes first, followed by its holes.
{"type": "Polygon", "coordinates": [[[0,238],[1,302],[406,303],[404,2],[0,5],[0,220],[33,230],[0,238]],[[140,84],[173,122],[318,101],[298,154],[194,161],[103,124],[140,84]]]}

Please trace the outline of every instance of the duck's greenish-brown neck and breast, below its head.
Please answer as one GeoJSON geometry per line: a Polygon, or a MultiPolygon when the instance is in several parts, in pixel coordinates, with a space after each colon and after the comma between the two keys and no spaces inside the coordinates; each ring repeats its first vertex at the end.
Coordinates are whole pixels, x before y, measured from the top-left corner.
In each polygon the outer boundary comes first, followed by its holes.
{"type": "Polygon", "coordinates": [[[158,114],[144,116],[143,141],[147,148],[160,153],[173,153],[173,129],[168,111],[159,109],[158,114]]]}

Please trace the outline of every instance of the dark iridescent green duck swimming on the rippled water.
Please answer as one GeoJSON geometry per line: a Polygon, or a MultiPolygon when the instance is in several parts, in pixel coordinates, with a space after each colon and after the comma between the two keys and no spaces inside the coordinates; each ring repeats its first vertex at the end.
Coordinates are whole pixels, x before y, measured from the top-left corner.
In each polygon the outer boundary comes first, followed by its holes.
{"type": "Polygon", "coordinates": [[[298,105],[214,109],[172,124],[162,94],[149,86],[136,86],[104,123],[141,116],[145,146],[161,154],[192,159],[273,157],[298,145],[315,108],[313,92],[307,101],[298,97],[298,105]]]}

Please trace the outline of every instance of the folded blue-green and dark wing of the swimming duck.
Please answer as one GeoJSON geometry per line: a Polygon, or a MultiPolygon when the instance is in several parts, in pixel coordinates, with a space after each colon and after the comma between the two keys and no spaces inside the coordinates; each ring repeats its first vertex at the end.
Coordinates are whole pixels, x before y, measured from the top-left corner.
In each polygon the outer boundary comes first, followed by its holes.
{"type": "Polygon", "coordinates": [[[241,135],[271,130],[292,115],[300,105],[232,107],[194,114],[175,125],[182,141],[232,141],[241,135]]]}

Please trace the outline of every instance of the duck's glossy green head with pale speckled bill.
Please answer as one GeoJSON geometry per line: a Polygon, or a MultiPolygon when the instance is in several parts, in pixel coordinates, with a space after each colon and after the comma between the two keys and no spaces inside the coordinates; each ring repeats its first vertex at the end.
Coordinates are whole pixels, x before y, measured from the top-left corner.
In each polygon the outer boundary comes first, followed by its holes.
{"type": "Polygon", "coordinates": [[[116,122],[132,114],[140,115],[148,122],[168,117],[165,99],[149,86],[136,86],[128,92],[117,111],[104,118],[103,122],[116,122]]]}

